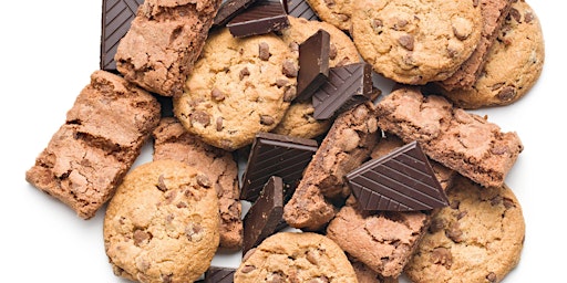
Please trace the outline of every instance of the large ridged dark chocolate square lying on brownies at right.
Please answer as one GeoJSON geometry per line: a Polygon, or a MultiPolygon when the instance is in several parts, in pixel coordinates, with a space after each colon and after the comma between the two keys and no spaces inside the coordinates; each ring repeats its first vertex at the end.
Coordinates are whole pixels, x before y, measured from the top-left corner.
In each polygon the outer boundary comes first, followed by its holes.
{"type": "Polygon", "coordinates": [[[449,206],[417,142],[372,159],[347,175],[363,210],[414,211],[449,206]]]}

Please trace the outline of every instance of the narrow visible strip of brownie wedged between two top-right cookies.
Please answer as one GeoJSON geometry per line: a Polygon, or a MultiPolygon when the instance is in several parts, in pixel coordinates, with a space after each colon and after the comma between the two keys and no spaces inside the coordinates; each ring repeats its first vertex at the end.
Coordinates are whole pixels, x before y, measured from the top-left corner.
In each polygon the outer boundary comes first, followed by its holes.
{"type": "Polygon", "coordinates": [[[508,15],[512,0],[481,0],[481,12],[484,24],[481,41],[473,54],[458,67],[458,70],[440,82],[444,90],[470,88],[474,85],[486,62],[486,56],[495,41],[498,30],[508,15]]]}

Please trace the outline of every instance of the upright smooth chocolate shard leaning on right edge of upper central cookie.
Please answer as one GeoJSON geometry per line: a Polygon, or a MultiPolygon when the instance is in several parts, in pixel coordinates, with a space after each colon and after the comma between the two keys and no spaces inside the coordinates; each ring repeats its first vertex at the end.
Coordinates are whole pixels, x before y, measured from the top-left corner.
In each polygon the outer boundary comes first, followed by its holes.
{"type": "Polygon", "coordinates": [[[331,36],[324,30],[317,31],[299,44],[298,101],[307,101],[329,76],[329,50],[331,36]]]}

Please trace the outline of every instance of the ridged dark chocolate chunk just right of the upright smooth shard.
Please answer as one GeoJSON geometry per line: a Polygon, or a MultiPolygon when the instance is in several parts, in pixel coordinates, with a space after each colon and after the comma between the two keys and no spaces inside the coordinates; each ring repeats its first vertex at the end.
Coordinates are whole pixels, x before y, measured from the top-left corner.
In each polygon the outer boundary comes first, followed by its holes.
{"type": "Polygon", "coordinates": [[[312,95],[316,119],[328,119],[370,99],[372,96],[372,67],[354,63],[329,70],[327,82],[312,95]]]}

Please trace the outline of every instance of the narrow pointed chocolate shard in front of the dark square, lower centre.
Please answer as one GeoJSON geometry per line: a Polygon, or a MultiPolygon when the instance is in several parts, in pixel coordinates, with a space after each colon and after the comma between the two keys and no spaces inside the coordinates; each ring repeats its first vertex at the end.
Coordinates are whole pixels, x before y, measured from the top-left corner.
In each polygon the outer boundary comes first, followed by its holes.
{"type": "Polygon", "coordinates": [[[284,219],[284,181],[272,176],[244,217],[243,254],[277,231],[284,219]]]}

